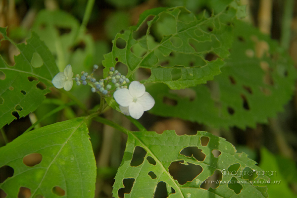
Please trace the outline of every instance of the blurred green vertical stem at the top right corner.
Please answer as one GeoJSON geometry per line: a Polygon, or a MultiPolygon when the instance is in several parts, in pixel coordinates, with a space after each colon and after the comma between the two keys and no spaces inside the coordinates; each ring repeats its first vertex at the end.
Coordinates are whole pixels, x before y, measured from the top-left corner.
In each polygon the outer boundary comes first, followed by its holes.
{"type": "Polygon", "coordinates": [[[286,0],[282,20],[281,46],[288,50],[290,47],[291,22],[294,11],[294,0],[286,0]]]}

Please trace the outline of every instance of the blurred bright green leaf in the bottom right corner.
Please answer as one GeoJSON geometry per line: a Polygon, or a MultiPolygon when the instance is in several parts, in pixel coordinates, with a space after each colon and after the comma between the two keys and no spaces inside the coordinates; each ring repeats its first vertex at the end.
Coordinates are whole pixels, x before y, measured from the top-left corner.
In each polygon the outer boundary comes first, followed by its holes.
{"type": "Polygon", "coordinates": [[[271,183],[267,185],[269,198],[296,198],[296,195],[291,191],[289,183],[292,179],[296,182],[297,169],[296,164],[280,156],[275,156],[266,148],[261,148],[260,168],[265,171],[270,171],[271,183]],[[274,171],[271,173],[271,171],[274,171]],[[295,178],[294,178],[295,176],[295,178]]]}

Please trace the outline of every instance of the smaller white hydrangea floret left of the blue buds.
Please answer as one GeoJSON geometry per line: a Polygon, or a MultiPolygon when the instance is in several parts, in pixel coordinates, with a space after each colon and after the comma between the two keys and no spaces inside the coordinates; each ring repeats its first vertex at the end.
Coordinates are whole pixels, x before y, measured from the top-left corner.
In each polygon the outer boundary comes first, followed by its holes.
{"type": "Polygon", "coordinates": [[[56,88],[64,88],[64,90],[69,91],[73,85],[72,76],[72,67],[69,64],[65,67],[64,72],[59,72],[57,75],[55,75],[51,82],[56,88]]]}

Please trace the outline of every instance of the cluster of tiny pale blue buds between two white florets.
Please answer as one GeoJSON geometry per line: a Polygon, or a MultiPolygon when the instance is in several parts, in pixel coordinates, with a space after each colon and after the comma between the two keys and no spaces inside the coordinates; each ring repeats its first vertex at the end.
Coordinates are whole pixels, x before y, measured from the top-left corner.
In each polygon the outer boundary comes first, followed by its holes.
{"type": "Polygon", "coordinates": [[[107,95],[114,90],[111,90],[112,87],[115,87],[116,90],[122,88],[128,88],[127,83],[130,83],[130,80],[126,78],[126,76],[121,75],[118,70],[115,70],[114,67],[109,68],[108,76],[104,79],[100,79],[99,81],[93,77],[94,71],[99,68],[98,65],[94,65],[93,72],[89,75],[87,72],[82,71],[81,76],[79,74],[75,75],[76,85],[87,85],[88,83],[91,85],[91,91],[93,93],[99,92],[103,95],[107,95]],[[109,83],[114,84],[114,86],[109,83]]]}

